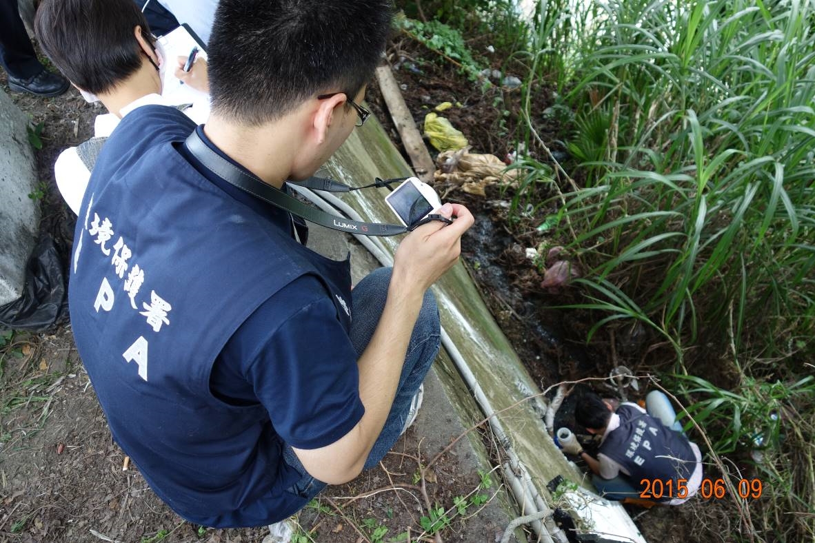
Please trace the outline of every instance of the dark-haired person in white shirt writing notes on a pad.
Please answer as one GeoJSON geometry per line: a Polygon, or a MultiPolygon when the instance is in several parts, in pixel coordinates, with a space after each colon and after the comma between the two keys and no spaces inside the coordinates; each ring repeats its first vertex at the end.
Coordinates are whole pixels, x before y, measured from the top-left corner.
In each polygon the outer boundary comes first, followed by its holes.
{"type": "Polygon", "coordinates": [[[96,118],[94,138],[63,151],[54,166],[60,194],[78,213],[95,155],[122,117],[137,107],[161,104],[183,108],[192,120],[203,123],[209,116],[209,86],[203,55],[190,72],[183,72],[187,59],[166,58],[170,53],[162,40],[152,36],[130,0],[65,0],[63,9],[59,20],[37,15],[37,39],[73,85],[99,99],[109,112],[96,118]],[[192,90],[162,93],[172,78],[192,85],[192,90]]]}

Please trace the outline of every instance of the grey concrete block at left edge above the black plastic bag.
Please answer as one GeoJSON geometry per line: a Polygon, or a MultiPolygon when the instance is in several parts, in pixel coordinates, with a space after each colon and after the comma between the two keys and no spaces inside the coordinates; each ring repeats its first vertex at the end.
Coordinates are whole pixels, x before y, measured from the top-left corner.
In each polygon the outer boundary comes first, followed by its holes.
{"type": "Polygon", "coordinates": [[[25,262],[40,222],[40,206],[29,198],[37,186],[37,170],[28,125],[28,118],[0,90],[0,305],[23,292],[25,262]]]}

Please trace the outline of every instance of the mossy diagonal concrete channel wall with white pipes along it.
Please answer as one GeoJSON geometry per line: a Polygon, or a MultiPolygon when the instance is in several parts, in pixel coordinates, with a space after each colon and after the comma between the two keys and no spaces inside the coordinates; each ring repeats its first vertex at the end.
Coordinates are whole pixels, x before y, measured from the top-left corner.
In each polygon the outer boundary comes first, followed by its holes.
{"type": "MultiPolygon", "coordinates": [[[[410,170],[381,126],[370,123],[352,134],[320,174],[359,186],[374,177],[409,175],[410,170]]],[[[331,193],[318,195],[293,188],[329,213],[357,221],[393,221],[383,202],[384,191],[355,191],[340,199],[331,193]]],[[[379,264],[392,264],[398,239],[355,238],[379,264]]],[[[454,366],[452,371],[437,374],[456,374],[465,383],[483,414],[471,418],[489,417],[491,431],[507,458],[501,471],[515,499],[518,518],[509,521],[503,541],[510,541],[514,528],[523,524],[534,530],[535,541],[570,541],[554,519],[558,509],[568,510],[579,528],[572,541],[645,543],[623,506],[597,497],[584,482],[584,474],[553,443],[543,420],[547,406],[535,396],[537,386],[492,320],[463,265],[448,272],[434,292],[442,315],[443,347],[454,366]],[[547,485],[558,477],[575,484],[567,485],[570,489],[565,491],[558,489],[555,503],[555,489],[547,485]]]]}

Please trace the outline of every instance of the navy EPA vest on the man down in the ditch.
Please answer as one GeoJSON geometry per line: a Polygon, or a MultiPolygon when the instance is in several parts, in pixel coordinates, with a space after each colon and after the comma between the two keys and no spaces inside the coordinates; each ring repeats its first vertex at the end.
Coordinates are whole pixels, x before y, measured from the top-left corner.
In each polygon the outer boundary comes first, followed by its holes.
{"type": "Polygon", "coordinates": [[[635,487],[643,479],[659,479],[673,480],[676,489],[677,479],[690,479],[696,456],[687,438],[632,405],[620,405],[617,414],[619,427],[609,432],[599,452],[623,466],[635,487]]]}

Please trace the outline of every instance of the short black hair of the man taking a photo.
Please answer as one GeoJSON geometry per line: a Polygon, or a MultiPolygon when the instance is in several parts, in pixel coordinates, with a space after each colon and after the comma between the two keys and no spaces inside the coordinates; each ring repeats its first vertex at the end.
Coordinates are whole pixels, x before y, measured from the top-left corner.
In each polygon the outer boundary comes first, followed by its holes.
{"type": "Polygon", "coordinates": [[[373,76],[391,0],[221,0],[207,48],[214,112],[260,125],[373,76]]]}

